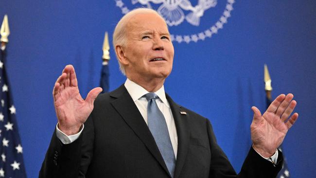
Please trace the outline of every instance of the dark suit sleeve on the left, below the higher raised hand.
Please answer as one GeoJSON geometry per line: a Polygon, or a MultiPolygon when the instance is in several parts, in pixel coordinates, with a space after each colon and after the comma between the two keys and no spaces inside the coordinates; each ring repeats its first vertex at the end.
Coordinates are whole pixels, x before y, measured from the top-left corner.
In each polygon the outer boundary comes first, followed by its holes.
{"type": "Polygon", "coordinates": [[[63,144],[55,130],[38,177],[84,178],[93,156],[93,128],[90,115],[79,138],[70,144],[63,144]]]}

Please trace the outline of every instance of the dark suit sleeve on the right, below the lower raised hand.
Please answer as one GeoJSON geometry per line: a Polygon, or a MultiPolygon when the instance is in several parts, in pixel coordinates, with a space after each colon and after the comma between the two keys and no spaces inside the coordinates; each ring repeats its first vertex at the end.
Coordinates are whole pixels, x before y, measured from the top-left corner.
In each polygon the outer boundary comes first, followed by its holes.
{"type": "Polygon", "coordinates": [[[276,167],[268,160],[263,159],[251,147],[246,160],[237,175],[227,156],[216,142],[216,138],[209,120],[207,120],[207,129],[211,144],[211,168],[210,178],[275,178],[282,168],[283,156],[279,151],[279,157],[276,167]]]}

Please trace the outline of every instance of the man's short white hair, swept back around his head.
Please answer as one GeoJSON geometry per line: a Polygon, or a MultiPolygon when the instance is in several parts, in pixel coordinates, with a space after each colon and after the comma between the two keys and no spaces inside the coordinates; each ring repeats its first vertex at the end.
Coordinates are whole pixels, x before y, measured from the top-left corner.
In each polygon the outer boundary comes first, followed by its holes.
{"type": "MultiPolygon", "coordinates": [[[[127,23],[129,22],[129,20],[131,18],[133,18],[135,15],[147,14],[147,13],[154,13],[154,14],[157,14],[158,16],[160,16],[158,14],[158,12],[153,10],[153,9],[137,8],[137,9],[134,9],[134,10],[128,12],[127,14],[125,14],[123,16],[123,18],[121,18],[121,20],[117,23],[117,25],[115,27],[115,30],[114,30],[114,33],[113,33],[113,47],[114,47],[115,52],[116,52],[116,48],[115,48],[116,46],[124,47],[126,45],[126,31],[125,31],[125,28],[126,28],[127,23]]],[[[117,52],[116,52],[116,58],[117,58],[117,60],[119,62],[120,70],[122,71],[123,75],[125,75],[124,66],[123,66],[123,64],[121,64],[121,62],[119,60],[119,56],[117,55],[117,52]]]]}

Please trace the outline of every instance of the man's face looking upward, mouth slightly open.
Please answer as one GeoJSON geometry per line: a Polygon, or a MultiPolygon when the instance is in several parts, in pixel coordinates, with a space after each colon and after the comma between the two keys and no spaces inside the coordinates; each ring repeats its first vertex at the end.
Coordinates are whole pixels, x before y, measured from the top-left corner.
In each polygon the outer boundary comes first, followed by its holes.
{"type": "Polygon", "coordinates": [[[138,14],[126,25],[125,71],[130,79],[166,78],[174,58],[174,46],[166,23],[154,13],[138,14]]]}

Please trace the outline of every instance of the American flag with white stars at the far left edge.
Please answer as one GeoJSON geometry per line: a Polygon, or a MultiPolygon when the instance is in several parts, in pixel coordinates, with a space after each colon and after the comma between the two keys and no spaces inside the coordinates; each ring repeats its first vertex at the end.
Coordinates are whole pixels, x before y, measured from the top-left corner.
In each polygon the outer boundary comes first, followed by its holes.
{"type": "Polygon", "coordinates": [[[5,46],[0,50],[0,178],[26,178],[16,108],[5,71],[5,46]]]}

